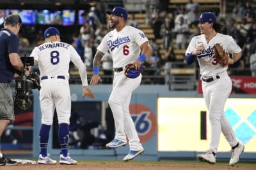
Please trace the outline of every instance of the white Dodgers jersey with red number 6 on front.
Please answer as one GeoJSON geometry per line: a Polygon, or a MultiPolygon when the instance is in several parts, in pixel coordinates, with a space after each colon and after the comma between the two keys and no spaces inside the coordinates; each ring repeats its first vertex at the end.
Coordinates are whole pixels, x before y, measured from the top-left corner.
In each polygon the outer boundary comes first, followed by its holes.
{"type": "Polygon", "coordinates": [[[112,55],[113,67],[124,67],[138,59],[140,55],[140,46],[148,41],[145,34],[129,25],[126,25],[121,31],[116,29],[108,32],[102,39],[97,50],[112,55]]]}

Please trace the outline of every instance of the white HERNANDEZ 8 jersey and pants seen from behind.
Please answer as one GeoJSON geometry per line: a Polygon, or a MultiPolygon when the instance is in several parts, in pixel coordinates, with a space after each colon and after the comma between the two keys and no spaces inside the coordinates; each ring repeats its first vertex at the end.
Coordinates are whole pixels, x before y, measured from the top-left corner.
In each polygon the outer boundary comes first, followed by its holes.
{"type": "Polygon", "coordinates": [[[40,70],[40,108],[42,124],[52,125],[56,108],[58,123],[69,124],[71,97],[68,84],[70,61],[78,68],[83,85],[88,85],[86,66],[73,46],[59,41],[44,43],[33,49],[31,57],[38,61],[40,70]]]}

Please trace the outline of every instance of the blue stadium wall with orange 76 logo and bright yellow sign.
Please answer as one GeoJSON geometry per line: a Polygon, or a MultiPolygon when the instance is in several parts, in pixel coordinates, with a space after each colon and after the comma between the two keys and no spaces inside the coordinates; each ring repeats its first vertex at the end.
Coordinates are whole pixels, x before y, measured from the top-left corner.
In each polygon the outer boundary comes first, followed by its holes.
{"type": "MultiPolygon", "coordinates": [[[[97,85],[91,88],[95,92],[95,99],[81,98],[81,85],[70,85],[72,101],[102,101],[106,104],[112,85],[97,85]]],[[[202,94],[196,91],[168,89],[168,85],[140,85],[132,94],[130,111],[145,148],[145,152],[136,157],[136,160],[196,160],[198,153],[207,150],[207,137],[211,130],[207,129],[207,132],[204,132],[202,128],[202,122],[209,128],[207,119],[202,118],[202,113],[206,110],[202,94]]],[[[40,150],[38,134],[41,116],[39,92],[35,90],[33,94],[33,157],[36,159],[40,150]]],[[[227,102],[225,108],[230,124],[245,145],[244,153],[241,155],[241,160],[244,161],[255,161],[256,157],[255,98],[255,95],[231,94],[228,99],[230,102],[227,102]]],[[[85,111],[87,109],[84,108],[85,111]]],[[[52,131],[48,148],[52,157],[59,157],[60,150],[52,147],[52,131]]],[[[69,152],[72,157],[79,160],[122,160],[128,150],[128,146],[125,146],[115,150],[72,148],[69,152]]],[[[217,159],[229,160],[230,154],[230,147],[221,136],[217,159]]]]}

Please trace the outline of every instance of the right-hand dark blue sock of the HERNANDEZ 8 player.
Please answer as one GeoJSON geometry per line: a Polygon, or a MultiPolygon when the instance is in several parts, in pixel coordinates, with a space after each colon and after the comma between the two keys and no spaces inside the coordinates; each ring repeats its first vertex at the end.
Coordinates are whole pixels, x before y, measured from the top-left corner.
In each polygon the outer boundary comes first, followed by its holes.
{"type": "Polygon", "coordinates": [[[68,156],[68,124],[60,124],[59,127],[59,141],[61,146],[61,154],[64,157],[68,156]]]}

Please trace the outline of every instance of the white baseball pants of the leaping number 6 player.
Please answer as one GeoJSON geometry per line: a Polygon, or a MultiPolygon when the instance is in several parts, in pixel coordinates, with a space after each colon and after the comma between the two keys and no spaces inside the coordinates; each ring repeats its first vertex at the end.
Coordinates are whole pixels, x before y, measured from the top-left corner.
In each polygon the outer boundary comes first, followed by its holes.
{"type": "Polygon", "coordinates": [[[140,83],[141,74],[137,78],[127,78],[124,75],[124,71],[120,73],[115,72],[113,90],[108,101],[115,120],[115,139],[126,141],[127,135],[130,150],[143,149],[129,111],[132,91],[135,90],[140,83]]]}

